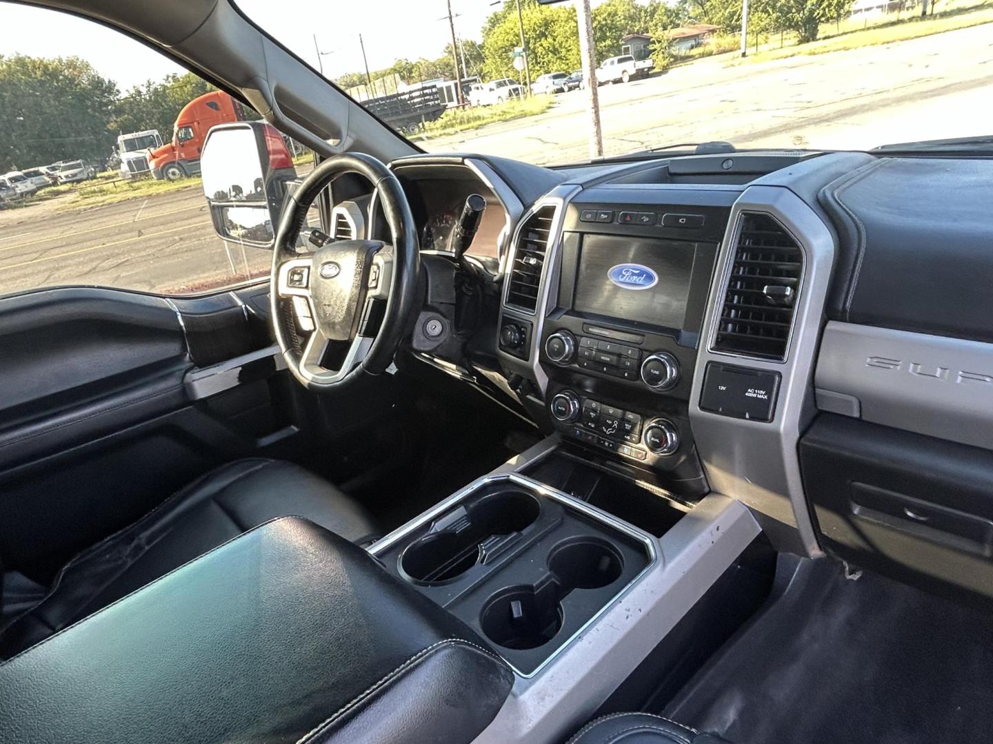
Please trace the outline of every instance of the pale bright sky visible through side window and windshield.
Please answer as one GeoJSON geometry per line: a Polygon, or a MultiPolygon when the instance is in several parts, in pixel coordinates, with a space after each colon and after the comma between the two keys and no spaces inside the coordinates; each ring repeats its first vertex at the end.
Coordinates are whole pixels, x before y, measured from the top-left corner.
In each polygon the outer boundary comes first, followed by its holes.
{"type": "MultiPolygon", "coordinates": [[[[511,0],[512,1],[512,0],[511,0]]],[[[500,0],[451,0],[460,38],[481,40],[500,0]]],[[[163,3],[167,5],[168,3],[163,3]]],[[[593,5],[599,4],[594,0],[593,5]]],[[[278,42],[337,77],[362,70],[361,34],[369,69],[395,60],[440,57],[451,42],[446,0],[240,0],[238,7],[278,42]]],[[[133,39],[57,11],[0,2],[0,55],[80,57],[121,90],[183,68],[133,39]]]]}

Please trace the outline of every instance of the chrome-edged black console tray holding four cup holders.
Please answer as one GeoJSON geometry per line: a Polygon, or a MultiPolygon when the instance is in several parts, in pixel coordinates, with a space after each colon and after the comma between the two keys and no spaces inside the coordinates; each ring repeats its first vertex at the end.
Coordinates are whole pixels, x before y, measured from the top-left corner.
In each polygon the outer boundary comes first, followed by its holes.
{"type": "Polygon", "coordinates": [[[477,481],[374,553],[523,678],[656,559],[647,535],[515,473],[477,481]]]}

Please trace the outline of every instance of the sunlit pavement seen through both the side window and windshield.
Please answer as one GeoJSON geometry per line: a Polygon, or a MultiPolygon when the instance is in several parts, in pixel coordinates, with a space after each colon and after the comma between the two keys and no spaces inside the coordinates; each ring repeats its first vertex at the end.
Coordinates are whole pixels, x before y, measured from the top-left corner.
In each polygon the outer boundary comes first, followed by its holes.
{"type": "MultiPolygon", "coordinates": [[[[988,133],[991,26],[898,44],[728,66],[729,58],[600,88],[608,154],[728,140],[740,147],[867,148],[988,133]]],[[[532,163],[589,157],[582,91],[539,116],[429,140],[433,151],[532,163]]],[[[91,209],[59,199],[0,211],[0,294],[61,284],[184,292],[267,271],[270,254],[213,234],[199,182],[91,209]],[[65,203],[65,202],[63,202],[65,203]]]]}

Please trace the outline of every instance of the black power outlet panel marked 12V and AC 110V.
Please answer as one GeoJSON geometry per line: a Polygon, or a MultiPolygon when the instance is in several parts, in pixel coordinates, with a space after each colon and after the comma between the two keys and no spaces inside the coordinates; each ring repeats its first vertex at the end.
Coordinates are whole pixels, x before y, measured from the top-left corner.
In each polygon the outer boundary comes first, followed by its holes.
{"type": "Polygon", "coordinates": [[[780,380],[779,372],[709,362],[700,408],[733,419],[771,422],[776,417],[780,380]]]}

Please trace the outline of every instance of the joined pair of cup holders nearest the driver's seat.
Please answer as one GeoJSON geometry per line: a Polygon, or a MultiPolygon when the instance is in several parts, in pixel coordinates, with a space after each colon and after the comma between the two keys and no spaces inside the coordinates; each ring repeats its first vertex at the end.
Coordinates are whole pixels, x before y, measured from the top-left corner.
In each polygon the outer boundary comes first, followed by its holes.
{"type": "Polygon", "coordinates": [[[476,565],[488,540],[522,532],[540,513],[538,500],[523,491],[486,496],[450,527],[411,543],[400,557],[400,569],[420,583],[445,583],[476,565]]]}

